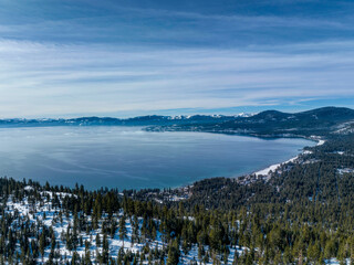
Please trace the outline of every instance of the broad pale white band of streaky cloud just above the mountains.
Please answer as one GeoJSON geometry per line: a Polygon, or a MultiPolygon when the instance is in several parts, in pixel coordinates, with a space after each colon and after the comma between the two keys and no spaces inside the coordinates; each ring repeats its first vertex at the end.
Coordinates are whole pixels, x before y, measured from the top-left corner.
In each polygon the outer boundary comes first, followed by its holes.
{"type": "Polygon", "coordinates": [[[157,50],[0,40],[0,116],[121,116],[353,97],[353,44],[157,50]]]}

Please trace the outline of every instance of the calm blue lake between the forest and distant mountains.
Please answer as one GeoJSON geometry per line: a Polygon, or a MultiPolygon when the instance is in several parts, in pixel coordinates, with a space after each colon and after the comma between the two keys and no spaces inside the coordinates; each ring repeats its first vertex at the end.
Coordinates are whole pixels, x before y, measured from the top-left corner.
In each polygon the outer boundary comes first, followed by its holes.
{"type": "Polygon", "coordinates": [[[304,139],[208,132],[147,132],[139,127],[0,129],[0,174],[87,189],[175,188],[238,177],[296,156],[304,139]]]}

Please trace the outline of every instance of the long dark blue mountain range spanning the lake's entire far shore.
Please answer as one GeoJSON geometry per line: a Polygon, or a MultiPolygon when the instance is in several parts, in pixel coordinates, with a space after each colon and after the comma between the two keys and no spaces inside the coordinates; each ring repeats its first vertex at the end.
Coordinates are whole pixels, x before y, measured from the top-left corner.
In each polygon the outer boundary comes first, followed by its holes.
{"type": "Polygon", "coordinates": [[[256,115],[140,116],[134,118],[81,117],[72,119],[1,119],[1,127],[146,126],[149,131],[209,131],[263,137],[323,136],[353,129],[354,110],[323,107],[295,114],[266,110],[256,115]]]}

